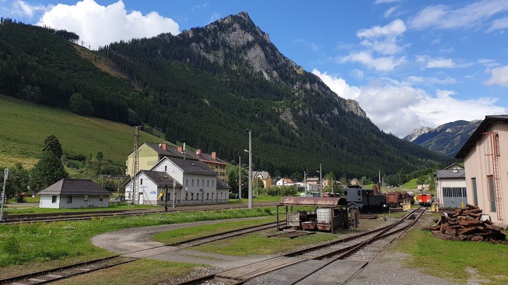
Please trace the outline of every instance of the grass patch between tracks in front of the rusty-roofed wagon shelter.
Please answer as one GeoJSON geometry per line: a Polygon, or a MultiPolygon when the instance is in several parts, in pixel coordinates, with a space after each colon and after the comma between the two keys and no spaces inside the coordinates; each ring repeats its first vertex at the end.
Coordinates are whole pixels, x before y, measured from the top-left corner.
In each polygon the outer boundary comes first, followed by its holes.
{"type": "Polygon", "coordinates": [[[262,233],[251,233],[201,244],[193,247],[192,250],[230,256],[272,255],[294,250],[302,245],[318,244],[336,238],[337,234],[329,233],[315,233],[293,239],[272,238],[262,233]]]}

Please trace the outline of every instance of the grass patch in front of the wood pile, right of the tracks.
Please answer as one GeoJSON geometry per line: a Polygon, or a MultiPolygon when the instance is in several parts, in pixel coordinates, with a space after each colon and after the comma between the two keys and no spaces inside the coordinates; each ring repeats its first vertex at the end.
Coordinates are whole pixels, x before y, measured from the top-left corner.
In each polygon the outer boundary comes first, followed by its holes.
{"type": "MultiPolygon", "coordinates": [[[[430,215],[429,215],[430,216],[430,215]]],[[[432,218],[438,217],[433,214],[432,218]]],[[[427,224],[430,224],[430,220],[427,224]]],[[[421,223],[419,226],[424,226],[421,223]]],[[[391,249],[410,254],[405,264],[424,268],[423,273],[466,283],[471,276],[468,268],[477,271],[484,284],[508,282],[508,246],[488,242],[450,241],[431,236],[420,227],[411,230],[391,249]]],[[[476,275],[476,274],[475,274],[476,275]]]]}

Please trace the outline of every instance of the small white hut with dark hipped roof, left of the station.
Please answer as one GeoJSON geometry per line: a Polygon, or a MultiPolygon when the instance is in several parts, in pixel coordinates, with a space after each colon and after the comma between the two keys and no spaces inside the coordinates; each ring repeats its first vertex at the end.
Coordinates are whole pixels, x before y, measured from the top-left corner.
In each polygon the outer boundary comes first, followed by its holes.
{"type": "Polygon", "coordinates": [[[61,179],[37,195],[40,208],[108,207],[110,192],[88,179],[61,179]]]}

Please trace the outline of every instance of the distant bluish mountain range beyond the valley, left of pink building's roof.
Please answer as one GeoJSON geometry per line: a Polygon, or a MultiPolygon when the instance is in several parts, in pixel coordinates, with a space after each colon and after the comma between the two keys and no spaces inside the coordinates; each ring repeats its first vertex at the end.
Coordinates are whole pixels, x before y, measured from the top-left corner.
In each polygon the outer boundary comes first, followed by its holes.
{"type": "Polygon", "coordinates": [[[455,156],[481,122],[482,120],[471,122],[460,120],[446,123],[435,129],[419,127],[403,139],[446,156],[455,156]]]}

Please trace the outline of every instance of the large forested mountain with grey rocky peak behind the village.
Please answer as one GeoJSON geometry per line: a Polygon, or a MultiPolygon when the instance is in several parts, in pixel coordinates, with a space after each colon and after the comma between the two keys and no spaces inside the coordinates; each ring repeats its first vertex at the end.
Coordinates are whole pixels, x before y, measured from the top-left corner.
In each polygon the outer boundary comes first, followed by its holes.
{"type": "Polygon", "coordinates": [[[363,176],[447,159],[380,131],[356,101],[280,54],[245,12],[176,36],[113,43],[93,58],[42,27],[4,21],[0,39],[0,93],[142,121],[230,161],[246,155],[251,128],[256,169],[290,174],[323,163],[363,176]]]}

